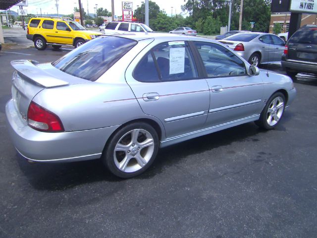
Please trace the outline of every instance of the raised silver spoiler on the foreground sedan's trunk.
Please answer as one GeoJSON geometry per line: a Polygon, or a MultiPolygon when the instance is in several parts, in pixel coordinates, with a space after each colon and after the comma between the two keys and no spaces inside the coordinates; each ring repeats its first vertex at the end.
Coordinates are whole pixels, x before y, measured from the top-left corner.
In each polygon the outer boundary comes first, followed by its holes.
{"type": "Polygon", "coordinates": [[[63,86],[69,84],[66,81],[54,77],[52,74],[47,73],[43,69],[36,66],[37,61],[34,60],[14,60],[11,65],[18,71],[18,74],[29,80],[34,81],[46,88],[63,86]]]}

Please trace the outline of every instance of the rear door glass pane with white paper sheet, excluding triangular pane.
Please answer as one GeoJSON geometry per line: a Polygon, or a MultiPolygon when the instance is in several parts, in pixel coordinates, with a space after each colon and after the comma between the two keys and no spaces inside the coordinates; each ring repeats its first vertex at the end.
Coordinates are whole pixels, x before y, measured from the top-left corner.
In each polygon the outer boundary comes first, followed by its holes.
{"type": "Polygon", "coordinates": [[[184,41],[165,42],[152,49],[162,81],[198,78],[196,64],[184,41]]]}

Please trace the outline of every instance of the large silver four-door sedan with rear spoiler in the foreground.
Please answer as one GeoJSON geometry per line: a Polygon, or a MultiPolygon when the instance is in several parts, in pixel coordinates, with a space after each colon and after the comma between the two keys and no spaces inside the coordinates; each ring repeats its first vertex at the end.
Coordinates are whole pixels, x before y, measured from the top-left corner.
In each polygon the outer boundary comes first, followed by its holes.
{"type": "Polygon", "coordinates": [[[101,36],[54,62],[11,64],[17,151],[33,162],[101,158],[122,178],[148,169],[160,147],[251,121],[272,129],[296,95],[288,76],[171,34],[101,36]]]}

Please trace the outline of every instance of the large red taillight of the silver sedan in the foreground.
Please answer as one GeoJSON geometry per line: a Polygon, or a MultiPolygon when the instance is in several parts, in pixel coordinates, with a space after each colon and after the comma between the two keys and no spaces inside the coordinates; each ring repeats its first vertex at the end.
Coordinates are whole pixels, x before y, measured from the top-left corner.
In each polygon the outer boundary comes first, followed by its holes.
{"type": "Polygon", "coordinates": [[[64,131],[63,124],[55,114],[33,101],[28,109],[28,125],[36,130],[46,132],[64,131]]]}

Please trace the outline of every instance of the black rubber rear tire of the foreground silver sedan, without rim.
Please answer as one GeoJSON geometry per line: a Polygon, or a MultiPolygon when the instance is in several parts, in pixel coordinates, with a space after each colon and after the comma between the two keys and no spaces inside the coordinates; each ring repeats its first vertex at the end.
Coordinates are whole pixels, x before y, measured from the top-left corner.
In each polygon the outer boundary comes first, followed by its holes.
{"type": "Polygon", "coordinates": [[[157,154],[158,154],[158,150],[159,150],[159,136],[158,133],[156,132],[156,130],[149,124],[144,123],[144,122],[134,122],[131,124],[128,124],[124,127],[122,127],[121,129],[119,129],[118,131],[116,131],[113,136],[111,136],[109,138],[109,143],[107,143],[104,152],[103,152],[103,156],[102,156],[102,160],[103,163],[105,164],[106,168],[115,176],[120,177],[120,178],[132,178],[135,177],[137,175],[142,174],[144,171],[146,171],[154,162],[157,154]],[[120,171],[115,163],[114,163],[114,158],[113,158],[113,152],[114,152],[114,148],[117,144],[117,142],[119,141],[119,139],[128,131],[133,130],[133,129],[145,129],[148,132],[151,133],[151,135],[153,136],[154,139],[154,144],[155,144],[155,148],[154,148],[154,152],[153,155],[151,157],[151,159],[149,160],[149,162],[146,164],[146,166],[144,166],[142,169],[133,172],[133,173],[126,173],[126,172],[122,172],[120,171]]]}

